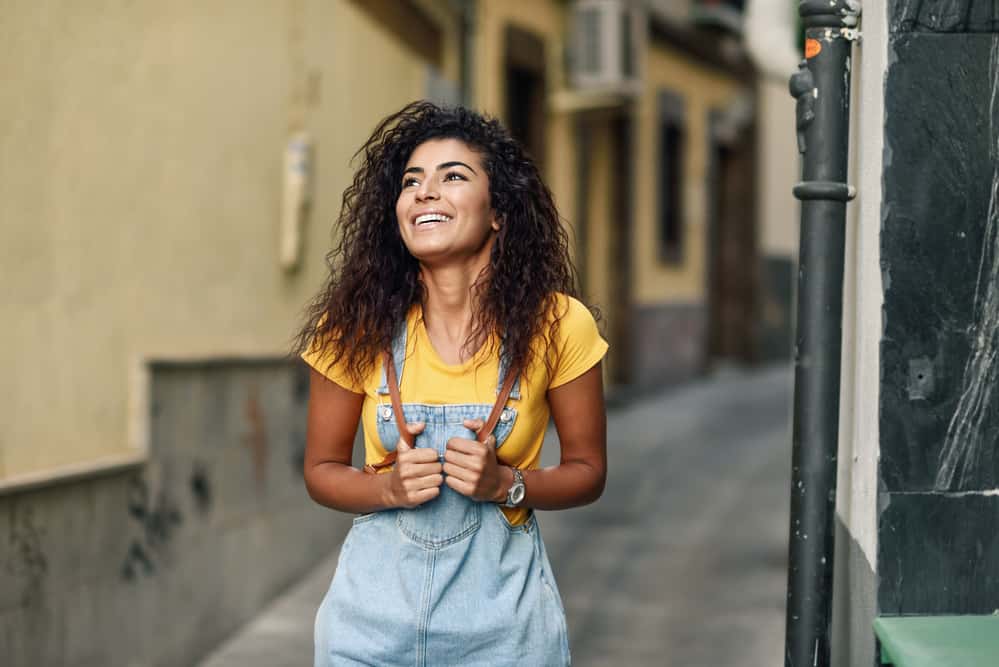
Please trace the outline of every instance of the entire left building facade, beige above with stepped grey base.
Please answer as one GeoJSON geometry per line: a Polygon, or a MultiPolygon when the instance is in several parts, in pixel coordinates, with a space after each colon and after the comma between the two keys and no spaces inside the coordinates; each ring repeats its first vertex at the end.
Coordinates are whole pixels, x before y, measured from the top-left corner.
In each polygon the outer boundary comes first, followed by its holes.
{"type": "Polygon", "coordinates": [[[346,531],[286,355],[354,151],[460,77],[372,4],[5,3],[3,664],[194,664],[346,531]]]}

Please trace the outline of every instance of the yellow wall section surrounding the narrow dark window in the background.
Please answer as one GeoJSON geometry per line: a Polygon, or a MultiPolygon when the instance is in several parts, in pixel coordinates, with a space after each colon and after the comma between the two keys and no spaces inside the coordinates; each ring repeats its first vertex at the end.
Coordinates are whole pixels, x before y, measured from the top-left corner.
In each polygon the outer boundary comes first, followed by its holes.
{"type": "Polygon", "coordinates": [[[708,114],[727,107],[740,92],[739,82],[711,70],[662,44],[646,55],[646,89],[639,101],[635,168],[635,302],[638,305],[694,303],[705,298],[707,241],[708,114]],[[684,234],[681,264],[658,255],[659,116],[657,93],[669,89],[686,105],[684,164],[684,234]]]}

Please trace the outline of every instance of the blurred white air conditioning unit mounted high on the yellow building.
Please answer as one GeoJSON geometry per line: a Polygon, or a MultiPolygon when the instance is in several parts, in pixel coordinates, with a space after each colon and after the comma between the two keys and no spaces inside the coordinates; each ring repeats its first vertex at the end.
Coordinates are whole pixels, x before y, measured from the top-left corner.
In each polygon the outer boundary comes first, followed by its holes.
{"type": "Polygon", "coordinates": [[[578,92],[635,95],[641,89],[645,11],[636,0],[574,0],[569,84],[578,92]]]}

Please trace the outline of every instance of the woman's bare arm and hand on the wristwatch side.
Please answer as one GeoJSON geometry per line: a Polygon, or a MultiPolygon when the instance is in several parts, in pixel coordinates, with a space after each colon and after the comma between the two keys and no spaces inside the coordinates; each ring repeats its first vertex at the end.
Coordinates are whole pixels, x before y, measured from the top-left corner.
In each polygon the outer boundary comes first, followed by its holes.
{"type": "MultiPolygon", "coordinates": [[[[607,478],[607,416],[600,364],[548,392],[548,404],[561,443],[561,461],[543,470],[523,470],[527,495],[523,507],[560,510],[592,503],[607,478]]],[[[477,430],[482,420],[468,420],[477,430]]],[[[513,485],[513,471],[496,459],[495,440],[486,444],[465,438],[448,441],[445,483],[476,500],[503,502],[513,485]]]]}

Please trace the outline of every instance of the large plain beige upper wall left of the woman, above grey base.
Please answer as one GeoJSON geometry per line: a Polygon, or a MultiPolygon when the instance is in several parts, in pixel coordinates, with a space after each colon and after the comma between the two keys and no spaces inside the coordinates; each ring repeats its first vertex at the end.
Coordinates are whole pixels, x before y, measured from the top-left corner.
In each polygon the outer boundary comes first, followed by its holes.
{"type": "Polygon", "coordinates": [[[141,444],[145,360],[284,353],[350,156],[425,77],[342,0],[5,3],[0,479],[141,444]],[[315,199],[287,275],[281,159],[299,126],[315,199]]]}

